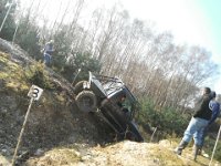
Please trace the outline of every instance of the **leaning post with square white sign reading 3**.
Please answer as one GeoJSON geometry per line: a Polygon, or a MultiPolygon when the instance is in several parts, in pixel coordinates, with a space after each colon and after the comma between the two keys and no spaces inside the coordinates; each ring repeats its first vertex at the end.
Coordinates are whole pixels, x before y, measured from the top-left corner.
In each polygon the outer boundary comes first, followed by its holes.
{"type": "Polygon", "coordinates": [[[18,138],[17,147],[15,147],[15,151],[14,151],[14,154],[13,154],[12,166],[14,166],[15,160],[17,160],[15,159],[17,153],[18,153],[18,149],[19,149],[19,146],[20,146],[20,143],[21,143],[21,138],[22,138],[22,135],[23,135],[23,132],[24,132],[24,127],[25,127],[27,122],[28,122],[28,117],[29,117],[29,114],[30,114],[32,103],[33,103],[33,101],[38,101],[40,98],[42,92],[43,92],[42,89],[38,87],[36,85],[32,85],[29,93],[28,93],[28,96],[31,97],[31,100],[30,100],[29,108],[27,111],[24,122],[23,122],[23,125],[22,125],[22,128],[21,128],[21,132],[20,132],[20,135],[19,135],[19,138],[18,138]]]}

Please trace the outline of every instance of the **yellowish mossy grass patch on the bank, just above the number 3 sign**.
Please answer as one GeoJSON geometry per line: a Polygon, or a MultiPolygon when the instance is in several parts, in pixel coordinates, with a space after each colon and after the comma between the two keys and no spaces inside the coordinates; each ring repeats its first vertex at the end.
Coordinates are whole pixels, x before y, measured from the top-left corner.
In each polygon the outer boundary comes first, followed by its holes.
{"type": "MultiPolygon", "coordinates": [[[[44,64],[40,62],[24,69],[10,61],[9,54],[0,52],[1,92],[27,95],[32,84],[45,90],[54,90],[54,84],[49,75],[44,64]]],[[[63,101],[62,96],[59,100],[63,101]]]]}

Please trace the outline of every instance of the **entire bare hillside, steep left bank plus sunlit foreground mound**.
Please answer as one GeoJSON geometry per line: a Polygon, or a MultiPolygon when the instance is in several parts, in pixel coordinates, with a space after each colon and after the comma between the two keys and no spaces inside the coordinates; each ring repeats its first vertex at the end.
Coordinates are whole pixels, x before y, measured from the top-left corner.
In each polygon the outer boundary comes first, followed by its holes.
{"type": "MultiPolygon", "coordinates": [[[[191,159],[191,148],[182,157],[173,154],[176,143],[115,142],[114,133],[94,118],[77,111],[72,85],[51,69],[32,60],[17,45],[0,39],[0,166],[10,165],[17,138],[30,98],[33,77],[43,69],[45,86],[34,102],[28,120],[17,165],[208,165],[199,156],[191,159]]],[[[36,80],[35,80],[36,81],[36,80]]],[[[214,162],[215,163],[215,162],[214,162]]],[[[219,164],[217,164],[219,165],[219,164]]]]}

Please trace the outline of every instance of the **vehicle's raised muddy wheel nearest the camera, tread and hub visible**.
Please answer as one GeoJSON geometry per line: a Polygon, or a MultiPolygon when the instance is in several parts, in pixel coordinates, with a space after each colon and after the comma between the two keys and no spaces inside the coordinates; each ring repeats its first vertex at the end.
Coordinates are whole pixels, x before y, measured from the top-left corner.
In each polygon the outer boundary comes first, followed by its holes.
{"type": "Polygon", "coordinates": [[[82,91],[76,96],[76,105],[83,112],[93,112],[97,108],[97,98],[92,91],[82,91]]]}

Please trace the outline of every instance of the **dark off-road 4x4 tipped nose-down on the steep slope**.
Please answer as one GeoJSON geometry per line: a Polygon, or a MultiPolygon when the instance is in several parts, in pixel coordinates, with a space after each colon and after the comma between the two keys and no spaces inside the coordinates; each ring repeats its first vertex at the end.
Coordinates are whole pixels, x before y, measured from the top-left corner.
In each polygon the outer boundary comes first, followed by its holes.
{"type": "Polygon", "coordinates": [[[135,96],[118,77],[93,75],[74,86],[75,101],[83,112],[96,112],[120,138],[143,142],[135,122],[135,96]]]}

